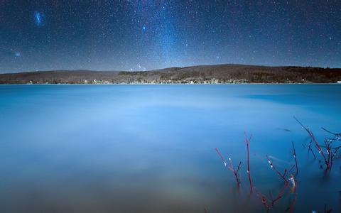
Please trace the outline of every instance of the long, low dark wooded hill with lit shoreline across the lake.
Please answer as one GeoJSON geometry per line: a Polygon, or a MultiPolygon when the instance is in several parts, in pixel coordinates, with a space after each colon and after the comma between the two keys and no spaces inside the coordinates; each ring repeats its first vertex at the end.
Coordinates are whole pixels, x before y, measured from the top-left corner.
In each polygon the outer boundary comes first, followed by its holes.
{"type": "Polygon", "coordinates": [[[204,65],[124,72],[56,70],[0,74],[0,84],[336,83],[341,69],[204,65]]]}

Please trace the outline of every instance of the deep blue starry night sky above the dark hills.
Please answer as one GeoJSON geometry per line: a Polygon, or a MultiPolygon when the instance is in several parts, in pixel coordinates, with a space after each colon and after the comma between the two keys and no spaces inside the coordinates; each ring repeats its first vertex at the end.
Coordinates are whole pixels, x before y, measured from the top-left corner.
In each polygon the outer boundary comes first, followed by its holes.
{"type": "Polygon", "coordinates": [[[341,1],[0,0],[0,72],[341,67],[341,1]]]}

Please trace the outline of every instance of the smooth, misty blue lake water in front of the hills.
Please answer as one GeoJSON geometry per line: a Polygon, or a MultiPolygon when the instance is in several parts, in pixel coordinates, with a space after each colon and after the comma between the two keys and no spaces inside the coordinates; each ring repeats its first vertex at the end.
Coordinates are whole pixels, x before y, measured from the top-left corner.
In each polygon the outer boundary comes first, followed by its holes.
{"type": "MultiPolygon", "coordinates": [[[[1,85],[0,212],[264,212],[296,144],[295,212],[339,212],[341,168],[302,144],[341,131],[341,85],[1,85]],[[214,148],[242,160],[242,189],[214,148]]],[[[341,144],[339,145],[341,146],[341,144]]],[[[283,212],[292,195],[274,212],[283,212]]]]}

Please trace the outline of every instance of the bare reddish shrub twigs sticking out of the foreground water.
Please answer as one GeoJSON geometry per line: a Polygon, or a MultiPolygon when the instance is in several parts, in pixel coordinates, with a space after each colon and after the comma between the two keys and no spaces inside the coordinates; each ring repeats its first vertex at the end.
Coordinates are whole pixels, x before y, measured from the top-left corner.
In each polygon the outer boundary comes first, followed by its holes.
{"type": "MultiPolygon", "coordinates": [[[[305,148],[308,151],[307,158],[309,158],[310,154],[313,155],[312,162],[318,162],[318,167],[316,167],[316,170],[323,171],[323,178],[328,177],[329,175],[335,175],[335,173],[331,173],[331,170],[332,170],[332,165],[335,164],[334,163],[335,160],[341,159],[341,156],[340,156],[341,133],[332,132],[332,131],[329,131],[328,129],[321,127],[323,131],[328,133],[328,136],[325,136],[323,143],[321,143],[320,141],[318,141],[317,138],[315,138],[313,131],[308,126],[305,126],[304,124],[302,124],[301,121],[299,121],[295,116],[293,118],[298,122],[298,124],[302,127],[302,129],[304,129],[304,131],[308,133],[308,137],[310,138],[310,141],[308,141],[308,143],[306,141],[302,143],[303,148],[305,148]]],[[[264,210],[266,212],[270,212],[270,210],[272,209],[274,209],[275,212],[279,212],[279,209],[277,209],[276,207],[276,204],[278,202],[288,203],[288,207],[286,207],[286,209],[282,209],[281,212],[294,212],[296,200],[298,199],[297,186],[301,185],[301,183],[303,182],[301,177],[298,176],[299,166],[298,166],[295,143],[291,141],[291,144],[292,144],[292,148],[290,151],[291,160],[281,162],[281,165],[278,167],[276,163],[279,163],[279,162],[274,163],[274,161],[276,160],[276,157],[272,155],[266,155],[266,158],[262,159],[264,161],[266,160],[269,163],[271,170],[274,170],[274,173],[277,174],[279,182],[282,182],[282,184],[278,185],[279,187],[277,188],[277,190],[269,189],[269,193],[265,193],[265,192],[260,192],[260,188],[257,186],[254,186],[252,178],[251,178],[251,171],[250,171],[250,166],[249,166],[249,143],[251,141],[251,138],[252,138],[252,135],[248,137],[247,133],[245,133],[245,143],[247,146],[247,163],[245,162],[243,163],[242,160],[239,160],[239,164],[237,167],[234,166],[234,164],[232,163],[231,156],[227,158],[228,160],[225,160],[224,156],[222,155],[222,153],[219,151],[218,148],[215,148],[215,151],[217,152],[217,155],[219,155],[220,159],[222,160],[222,163],[224,163],[224,167],[227,168],[227,170],[232,171],[234,178],[237,182],[237,190],[240,192],[243,192],[243,193],[240,193],[240,195],[248,195],[249,199],[251,195],[256,195],[256,197],[259,198],[259,201],[261,202],[261,204],[263,204],[264,210]],[[244,177],[242,177],[239,174],[239,170],[241,170],[241,168],[242,170],[245,170],[246,168],[247,174],[244,173],[244,177]],[[248,181],[242,181],[242,178],[244,178],[244,180],[248,179],[248,181]],[[249,182],[249,184],[247,182],[249,182]]],[[[340,166],[340,165],[337,165],[337,166],[340,166]]],[[[301,169],[300,171],[303,173],[308,172],[304,168],[303,170],[301,169]]],[[[336,168],[336,169],[340,169],[340,168],[336,168]]],[[[313,177],[313,178],[316,178],[316,177],[313,177]]],[[[262,190],[264,191],[264,189],[262,190]]],[[[337,191],[340,196],[341,191],[336,188],[335,192],[337,191]]],[[[330,207],[327,208],[327,204],[324,204],[324,207],[325,207],[324,209],[325,213],[332,212],[332,208],[330,207]]],[[[205,209],[205,212],[207,212],[206,209],[205,209]]],[[[313,210],[312,212],[318,212],[318,211],[313,210]]]]}

